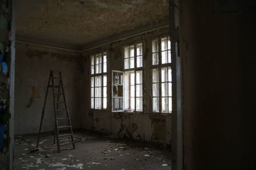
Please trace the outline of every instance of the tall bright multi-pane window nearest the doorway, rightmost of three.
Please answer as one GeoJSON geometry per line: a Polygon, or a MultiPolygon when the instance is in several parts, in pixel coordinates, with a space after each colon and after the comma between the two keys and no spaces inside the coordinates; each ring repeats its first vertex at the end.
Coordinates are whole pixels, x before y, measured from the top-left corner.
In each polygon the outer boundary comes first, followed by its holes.
{"type": "Polygon", "coordinates": [[[170,37],[152,41],[152,111],[172,113],[170,37]]]}

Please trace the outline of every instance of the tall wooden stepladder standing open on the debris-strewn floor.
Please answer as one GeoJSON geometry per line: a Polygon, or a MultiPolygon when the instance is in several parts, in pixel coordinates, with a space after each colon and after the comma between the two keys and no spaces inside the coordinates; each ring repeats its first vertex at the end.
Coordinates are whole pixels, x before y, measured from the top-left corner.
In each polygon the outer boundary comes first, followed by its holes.
{"type": "Polygon", "coordinates": [[[64,146],[64,145],[72,144],[73,148],[75,149],[72,125],[71,125],[70,116],[67,109],[61,71],[52,71],[52,70],[50,71],[50,76],[47,84],[47,90],[46,90],[46,95],[44,99],[44,106],[42,110],[36,148],[38,148],[39,139],[41,136],[42,122],[43,122],[44,113],[45,113],[45,104],[47,101],[49,88],[52,88],[54,122],[55,122],[53,143],[55,143],[55,138],[56,138],[59,153],[60,153],[60,146],[64,146]],[[68,141],[66,139],[64,140],[65,142],[61,143],[61,140],[60,140],[61,137],[67,137],[68,141]]]}

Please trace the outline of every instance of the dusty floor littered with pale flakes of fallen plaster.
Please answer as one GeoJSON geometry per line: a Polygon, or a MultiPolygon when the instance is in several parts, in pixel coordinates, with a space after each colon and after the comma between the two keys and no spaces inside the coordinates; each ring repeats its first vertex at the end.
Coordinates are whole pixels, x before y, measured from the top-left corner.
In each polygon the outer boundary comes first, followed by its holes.
{"type": "Polygon", "coordinates": [[[171,169],[170,148],[161,145],[111,138],[92,132],[76,132],[76,150],[70,146],[57,153],[53,136],[41,138],[41,149],[35,148],[36,136],[15,139],[15,169],[171,169]]]}

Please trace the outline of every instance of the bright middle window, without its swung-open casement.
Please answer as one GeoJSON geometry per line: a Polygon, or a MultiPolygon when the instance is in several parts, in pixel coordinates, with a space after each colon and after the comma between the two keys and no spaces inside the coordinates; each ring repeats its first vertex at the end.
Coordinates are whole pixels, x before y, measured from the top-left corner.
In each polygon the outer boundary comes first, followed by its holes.
{"type": "Polygon", "coordinates": [[[143,111],[142,43],[124,47],[124,109],[143,111]]]}

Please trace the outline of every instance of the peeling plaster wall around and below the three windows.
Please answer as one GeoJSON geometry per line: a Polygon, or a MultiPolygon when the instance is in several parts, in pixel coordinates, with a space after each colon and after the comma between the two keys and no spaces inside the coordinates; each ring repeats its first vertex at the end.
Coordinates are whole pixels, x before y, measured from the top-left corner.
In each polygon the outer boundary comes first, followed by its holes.
{"type": "Polygon", "coordinates": [[[81,100],[81,110],[83,111],[81,117],[81,127],[97,132],[104,132],[113,134],[121,138],[133,138],[141,141],[154,141],[157,143],[171,144],[171,115],[159,115],[150,113],[150,63],[151,54],[150,48],[152,39],[159,35],[168,34],[168,28],[156,32],[143,34],[135,38],[126,39],[118,43],[113,43],[102,48],[91,50],[83,53],[84,72],[83,72],[83,97],[81,100]],[[111,111],[111,72],[112,70],[123,70],[122,46],[127,43],[134,43],[136,41],[143,41],[147,47],[144,49],[143,56],[143,113],[123,113],[111,111]],[[107,50],[108,55],[108,109],[91,110],[90,109],[90,57],[92,53],[107,50]]]}

